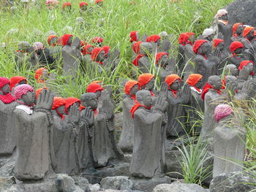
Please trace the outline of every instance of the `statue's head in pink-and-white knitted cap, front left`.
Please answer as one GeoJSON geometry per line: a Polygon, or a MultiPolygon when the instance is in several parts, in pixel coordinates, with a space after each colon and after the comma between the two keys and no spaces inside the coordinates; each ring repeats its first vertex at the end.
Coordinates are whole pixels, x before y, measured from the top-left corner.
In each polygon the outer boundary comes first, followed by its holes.
{"type": "Polygon", "coordinates": [[[24,104],[32,105],[35,103],[36,97],[34,88],[28,84],[18,85],[14,89],[15,99],[22,101],[24,104]]]}

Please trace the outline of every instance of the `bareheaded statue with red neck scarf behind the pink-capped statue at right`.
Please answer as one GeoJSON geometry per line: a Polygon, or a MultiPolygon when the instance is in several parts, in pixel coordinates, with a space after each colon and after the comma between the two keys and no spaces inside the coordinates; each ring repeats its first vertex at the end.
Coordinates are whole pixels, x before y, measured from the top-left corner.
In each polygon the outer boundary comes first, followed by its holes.
{"type": "Polygon", "coordinates": [[[200,137],[212,137],[216,122],[214,120],[214,110],[219,103],[223,102],[221,93],[222,80],[217,75],[208,78],[208,82],[203,88],[202,99],[204,100],[204,119],[200,137]]]}

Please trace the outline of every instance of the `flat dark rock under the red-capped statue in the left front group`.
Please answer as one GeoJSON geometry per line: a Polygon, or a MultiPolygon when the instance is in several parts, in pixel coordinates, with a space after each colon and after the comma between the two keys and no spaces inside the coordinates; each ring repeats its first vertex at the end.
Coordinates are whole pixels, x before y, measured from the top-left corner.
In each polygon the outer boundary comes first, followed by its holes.
{"type": "Polygon", "coordinates": [[[92,184],[99,183],[105,177],[115,176],[129,177],[129,164],[121,163],[116,164],[113,167],[106,167],[104,169],[88,169],[86,172],[82,173],[82,177],[85,177],[87,180],[89,180],[89,183],[92,184]]]}

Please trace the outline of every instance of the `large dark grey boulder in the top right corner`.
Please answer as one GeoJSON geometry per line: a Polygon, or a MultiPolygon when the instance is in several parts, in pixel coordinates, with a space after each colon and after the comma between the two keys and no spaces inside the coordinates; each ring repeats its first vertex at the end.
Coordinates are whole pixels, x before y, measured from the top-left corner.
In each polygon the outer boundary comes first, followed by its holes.
{"type": "Polygon", "coordinates": [[[235,0],[228,4],[226,9],[230,23],[244,23],[249,26],[256,26],[256,1],[235,0]]]}

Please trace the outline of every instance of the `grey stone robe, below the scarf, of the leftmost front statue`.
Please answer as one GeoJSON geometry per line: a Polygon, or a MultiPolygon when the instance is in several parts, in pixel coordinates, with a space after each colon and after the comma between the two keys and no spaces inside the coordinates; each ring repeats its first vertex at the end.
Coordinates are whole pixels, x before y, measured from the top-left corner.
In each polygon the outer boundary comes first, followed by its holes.
{"type": "Polygon", "coordinates": [[[11,155],[16,147],[17,134],[13,110],[17,102],[4,104],[0,101],[0,155],[11,155]]]}

